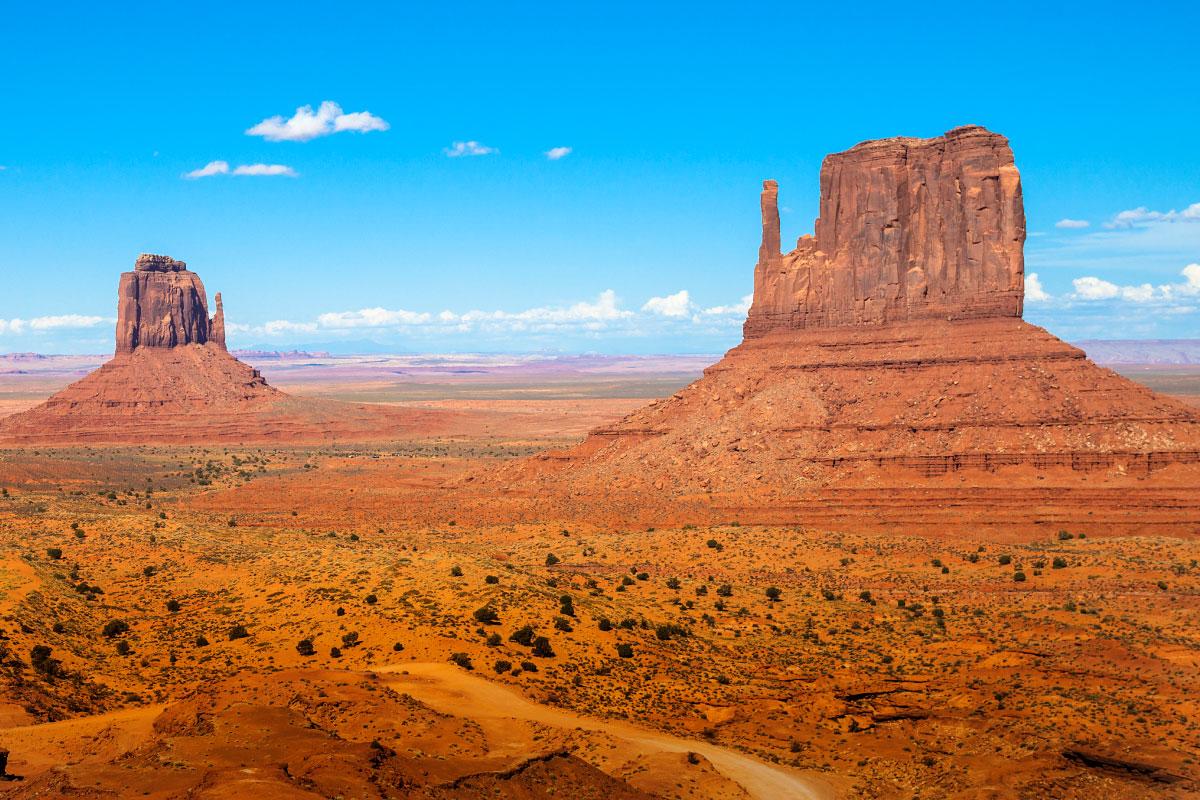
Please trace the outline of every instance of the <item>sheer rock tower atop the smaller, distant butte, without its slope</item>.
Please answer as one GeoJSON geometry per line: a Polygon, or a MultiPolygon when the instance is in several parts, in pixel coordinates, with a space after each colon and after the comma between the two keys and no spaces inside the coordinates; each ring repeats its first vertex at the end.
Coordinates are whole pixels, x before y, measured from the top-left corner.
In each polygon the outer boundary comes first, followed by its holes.
{"type": "Polygon", "coordinates": [[[224,345],[224,314],[209,319],[209,303],[200,276],[168,255],[138,257],[132,272],[121,275],[116,309],[116,351],[136,348],[173,348],[205,344],[220,319],[224,345]]]}

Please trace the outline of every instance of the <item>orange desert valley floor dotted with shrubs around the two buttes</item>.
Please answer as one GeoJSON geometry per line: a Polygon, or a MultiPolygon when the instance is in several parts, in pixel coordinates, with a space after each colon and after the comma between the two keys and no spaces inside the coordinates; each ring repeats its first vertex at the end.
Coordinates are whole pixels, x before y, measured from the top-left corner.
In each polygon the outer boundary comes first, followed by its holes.
{"type": "Polygon", "coordinates": [[[467,479],[712,360],[301,361],[256,366],[457,427],[0,451],[0,796],[1200,792],[1200,529],[512,515],[467,479]]]}

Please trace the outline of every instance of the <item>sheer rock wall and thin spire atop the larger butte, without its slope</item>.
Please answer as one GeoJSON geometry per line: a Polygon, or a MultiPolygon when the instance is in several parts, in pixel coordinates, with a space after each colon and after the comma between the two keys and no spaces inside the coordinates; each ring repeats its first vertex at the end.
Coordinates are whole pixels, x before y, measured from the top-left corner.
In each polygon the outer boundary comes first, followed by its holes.
{"type": "Polygon", "coordinates": [[[1020,317],[1025,210],[1008,139],[979,126],[864,142],[821,168],[815,236],[780,253],[778,186],[748,338],[776,329],[1020,317]]]}

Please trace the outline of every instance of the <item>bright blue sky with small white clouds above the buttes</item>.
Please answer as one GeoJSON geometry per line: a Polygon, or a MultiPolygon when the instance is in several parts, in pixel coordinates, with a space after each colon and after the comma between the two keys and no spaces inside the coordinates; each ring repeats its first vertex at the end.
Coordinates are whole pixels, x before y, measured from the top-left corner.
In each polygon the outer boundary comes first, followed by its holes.
{"type": "Polygon", "coordinates": [[[1031,321],[1200,336],[1195,4],[35,5],[0,30],[0,353],[110,349],[143,251],[240,345],[716,353],[762,179],[787,241],[827,152],[968,122],[1016,152],[1031,321]]]}

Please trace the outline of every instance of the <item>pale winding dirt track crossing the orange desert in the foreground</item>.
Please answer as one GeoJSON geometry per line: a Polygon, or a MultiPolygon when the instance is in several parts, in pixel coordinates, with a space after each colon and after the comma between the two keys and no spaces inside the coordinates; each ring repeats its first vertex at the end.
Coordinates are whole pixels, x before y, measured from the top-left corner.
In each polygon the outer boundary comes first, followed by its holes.
{"type": "Polygon", "coordinates": [[[438,711],[469,716],[485,727],[490,740],[498,734],[498,739],[503,741],[503,722],[510,720],[538,722],[554,728],[598,730],[642,753],[698,753],[751,798],[833,800],[835,796],[833,788],[820,778],[802,776],[787,768],[767,764],[703,741],[541,705],[505,686],[476,678],[450,664],[407,663],[380,667],[374,672],[392,688],[407,692],[438,711]]]}

